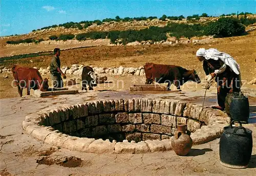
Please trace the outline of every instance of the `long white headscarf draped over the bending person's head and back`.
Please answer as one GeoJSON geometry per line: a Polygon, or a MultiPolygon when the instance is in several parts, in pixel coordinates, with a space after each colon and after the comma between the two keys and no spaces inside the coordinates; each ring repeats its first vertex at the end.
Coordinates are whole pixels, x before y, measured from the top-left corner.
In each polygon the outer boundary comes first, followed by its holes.
{"type": "Polygon", "coordinates": [[[237,75],[240,74],[240,68],[239,64],[234,60],[233,57],[231,57],[229,54],[220,52],[217,49],[210,48],[208,50],[205,50],[204,48],[200,48],[197,51],[197,56],[203,56],[205,59],[214,59],[214,60],[221,60],[223,61],[226,65],[230,67],[230,69],[236,73],[237,75]]]}

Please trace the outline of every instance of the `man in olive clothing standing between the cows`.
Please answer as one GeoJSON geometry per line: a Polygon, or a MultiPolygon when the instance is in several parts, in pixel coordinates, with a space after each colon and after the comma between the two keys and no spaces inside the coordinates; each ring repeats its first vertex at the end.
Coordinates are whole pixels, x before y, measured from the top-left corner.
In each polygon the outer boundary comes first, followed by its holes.
{"type": "Polygon", "coordinates": [[[50,73],[51,73],[51,78],[53,82],[53,87],[58,88],[58,87],[63,87],[63,81],[61,79],[61,75],[63,76],[64,79],[66,79],[66,75],[60,70],[60,49],[55,48],[54,49],[54,57],[52,58],[51,64],[50,64],[50,73]]]}

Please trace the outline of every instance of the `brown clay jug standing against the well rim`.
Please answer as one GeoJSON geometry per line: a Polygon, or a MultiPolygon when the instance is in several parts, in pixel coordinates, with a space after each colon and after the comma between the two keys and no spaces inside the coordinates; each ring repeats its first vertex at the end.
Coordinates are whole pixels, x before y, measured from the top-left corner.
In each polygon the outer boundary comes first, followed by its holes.
{"type": "Polygon", "coordinates": [[[186,156],[192,147],[192,139],[190,133],[186,133],[187,125],[185,123],[178,123],[178,130],[172,138],[172,146],[175,153],[179,156],[186,156]]]}

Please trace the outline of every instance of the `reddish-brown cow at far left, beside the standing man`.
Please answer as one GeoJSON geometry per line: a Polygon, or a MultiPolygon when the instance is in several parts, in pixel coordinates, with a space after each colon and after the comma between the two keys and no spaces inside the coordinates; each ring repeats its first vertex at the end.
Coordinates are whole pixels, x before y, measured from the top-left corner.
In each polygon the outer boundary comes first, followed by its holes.
{"type": "Polygon", "coordinates": [[[27,95],[30,95],[30,89],[39,89],[40,91],[48,90],[48,79],[45,78],[45,80],[42,80],[37,69],[14,65],[11,70],[15,83],[18,87],[18,94],[20,97],[22,97],[22,91],[24,88],[27,88],[27,95]]]}

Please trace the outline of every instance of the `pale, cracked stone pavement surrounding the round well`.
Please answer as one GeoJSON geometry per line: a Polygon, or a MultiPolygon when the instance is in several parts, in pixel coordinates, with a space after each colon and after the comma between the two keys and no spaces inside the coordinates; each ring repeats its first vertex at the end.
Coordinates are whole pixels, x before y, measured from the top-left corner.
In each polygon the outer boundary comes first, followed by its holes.
{"type": "MultiPolygon", "coordinates": [[[[22,121],[26,115],[60,104],[75,104],[96,99],[160,96],[166,99],[172,97],[202,103],[203,98],[198,95],[204,95],[204,91],[167,94],[108,91],[47,98],[26,96],[2,99],[0,100],[0,175],[255,175],[255,144],[249,167],[230,169],[219,163],[219,139],[194,145],[186,157],[179,157],[174,151],[134,155],[95,154],[50,146],[24,134],[22,130],[22,121]]],[[[205,104],[216,104],[216,94],[207,93],[205,104]]],[[[256,141],[256,124],[243,126],[253,131],[253,141],[256,141]]]]}

